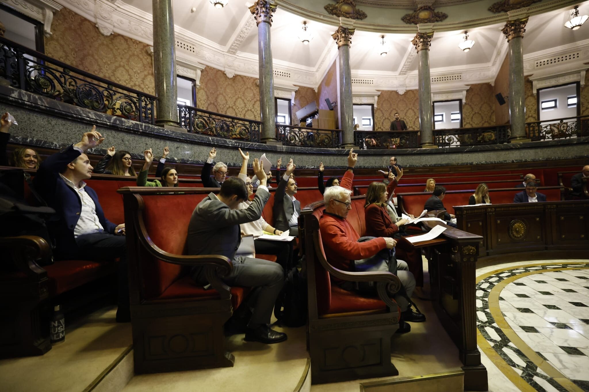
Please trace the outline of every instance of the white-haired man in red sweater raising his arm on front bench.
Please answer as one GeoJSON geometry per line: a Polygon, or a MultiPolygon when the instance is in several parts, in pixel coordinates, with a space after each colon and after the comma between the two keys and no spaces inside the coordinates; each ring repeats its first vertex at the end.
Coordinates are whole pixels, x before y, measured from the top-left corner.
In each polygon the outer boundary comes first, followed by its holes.
{"type": "MultiPolygon", "coordinates": [[[[365,242],[358,242],[359,234],[346,219],[349,211],[352,209],[350,195],[352,193],[352,180],[354,179],[353,169],[358,162],[358,154],[353,153],[350,149],[348,155],[348,169],[342,177],[340,186],[331,186],[325,189],[323,200],[325,202],[325,213],[320,219],[319,229],[323,240],[325,256],[332,266],[344,271],[353,271],[354,260],[366,259],[385,248],[392,249],[395,247],[396,240],[391,237],[378,237],[365,242]]],[[[398,260],[397,276],[405,288],[408,297],[411,297],[415,289],[415,278],[409,272],[407,263],[398,260]]],[[[332,282],[345,290],[353,290],[345,282],[335,277],[331,277],[332,282]]],[[[411,331],[406,321],[422,322],[425,316],[415,313],[409,307],[408,301],[401,295],[394,297],[396,303],[401,308],[401,320],[399,320],[399,329],[397,333],[406,333],[411,331]]]]}

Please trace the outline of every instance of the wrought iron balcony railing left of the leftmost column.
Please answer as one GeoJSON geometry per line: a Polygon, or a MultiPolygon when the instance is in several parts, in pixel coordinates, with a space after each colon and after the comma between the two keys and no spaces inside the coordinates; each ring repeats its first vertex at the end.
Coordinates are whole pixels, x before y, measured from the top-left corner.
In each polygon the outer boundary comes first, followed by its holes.
{"type": "Polygon", "coordinates": [[[0,38],[0,77],[14,88],[96,112],[155,123],[155,96],[130,89],[0,38]]]}

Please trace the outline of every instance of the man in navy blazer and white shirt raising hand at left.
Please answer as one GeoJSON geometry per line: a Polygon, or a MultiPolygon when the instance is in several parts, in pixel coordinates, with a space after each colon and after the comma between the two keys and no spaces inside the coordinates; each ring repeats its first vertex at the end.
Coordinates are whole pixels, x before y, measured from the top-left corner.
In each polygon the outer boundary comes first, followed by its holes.
{"type": "Polygon", "coordinates": [[[57,259],[120,259],[117,321],[130,321],[125,224],[117,226],[106,219],[96,192],[84,182],[92,176],[92,165],[84,152],[103,141],[93,126],[80,143],[45,159],[34,185],[57,212],[58,220],[51,225],[57,259]]]}

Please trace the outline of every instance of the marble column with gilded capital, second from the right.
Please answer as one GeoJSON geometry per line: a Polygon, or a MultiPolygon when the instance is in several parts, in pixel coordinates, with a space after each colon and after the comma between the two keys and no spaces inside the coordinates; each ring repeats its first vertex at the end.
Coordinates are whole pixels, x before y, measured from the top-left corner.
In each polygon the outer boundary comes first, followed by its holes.
{"type": "Polygon", "coordinates": [[[434,115],[432,114],[432,81],[429,76],[429,45],[433,32],[417,33],[413,45],[417,50],[418,96],[419,96],[419,135],[421,148],[436,148],[434,145],[434,115]]]}

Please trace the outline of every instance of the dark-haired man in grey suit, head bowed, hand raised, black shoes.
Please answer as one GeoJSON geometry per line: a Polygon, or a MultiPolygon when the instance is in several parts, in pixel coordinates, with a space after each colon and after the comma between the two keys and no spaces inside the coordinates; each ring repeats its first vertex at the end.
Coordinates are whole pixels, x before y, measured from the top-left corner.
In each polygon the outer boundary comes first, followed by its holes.
{"type": "MultiPolygon", "coordinates": [[[[285,333],[274,331],[268,326],[274,303],[284,284],[284,271],[280,264],[268,260],[235,256],[241,242],[240,223],[260,219],[264,205],[270,198],[266,173],[260,166],[260,162],[254,159],[254,173],[260,185],[252,204],[246,209],[236,209],[247,199],[246,184],[237,177],[224,180],[219,196],[209,193],[194,209],[186,243],[189,254],[221,254],[232,260],[233,270],[221,278],[224,283],[229,286],[255,287],[248,303],[242,305],[245,309],[253,308],[245,339],[270,344],[287,338],[285,333]]],[[[208,283],[201,268],[193,267],[192,274],[198,284],[208,283]]]]}

